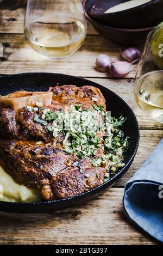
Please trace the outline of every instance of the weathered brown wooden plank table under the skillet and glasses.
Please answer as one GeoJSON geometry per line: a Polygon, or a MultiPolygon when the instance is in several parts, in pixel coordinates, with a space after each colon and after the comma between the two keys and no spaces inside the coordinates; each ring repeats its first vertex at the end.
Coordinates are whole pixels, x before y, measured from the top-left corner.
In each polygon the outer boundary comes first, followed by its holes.
{"type": "Polygon", "coordinates": [[[123,188],[163,137],[163,126],[149,119],[136,106],[133,96],[134,70],[117,80],[95,70],[99,53],[121,59],[119,46],[105,40],[88,25],[84,45],[68,59],[54,62],[42,58],[27,44],[23,35],[24,1],[0,5],[0,43],[4,44],[1,74],[57,72],[89,78],[124,99],[140,125],[140,146],[128,172],[102,196],[81,206],[48,214],[0,213],[0,243],[14,245],[152,245],[156,241],[133,225],[122,209],[123,188]],[[17,4],[14,6],[14,4],[17,4]],[[2,15],[1,15],[2,14],[2,15]]]}

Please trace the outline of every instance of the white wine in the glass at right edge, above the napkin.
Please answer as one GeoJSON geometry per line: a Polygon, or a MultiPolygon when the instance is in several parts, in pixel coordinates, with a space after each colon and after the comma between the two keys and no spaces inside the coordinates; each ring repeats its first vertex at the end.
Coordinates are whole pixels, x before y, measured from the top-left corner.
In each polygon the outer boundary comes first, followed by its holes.
{"type": "Polygon", "coordinates": [[[163,70],[141,76],[135,81],[134,94],[142,111],[163,123],[163,70]]]}

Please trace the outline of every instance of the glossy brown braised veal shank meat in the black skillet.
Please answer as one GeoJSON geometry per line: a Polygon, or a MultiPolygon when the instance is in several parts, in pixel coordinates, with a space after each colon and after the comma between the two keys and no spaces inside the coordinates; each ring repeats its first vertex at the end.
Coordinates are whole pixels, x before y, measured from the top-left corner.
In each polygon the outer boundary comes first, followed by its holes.
{"type": "MultiPolygon", "coordinates": [[[[95,87],[56,86],[49,92],[53,92],[53,100],[48,108],[53,111],[70,105],[91,109],[92,99],[106,110],[105,99],[95,87]]],[[[105,168],[93,167],[91,159],[65,153],[64,136],[55,138],[54,143],[47,126],[36,123],[34,117],[27,108],[0,108],[0,164],[6,172],[20,184],[40,188],[45,200],[76,196],[104,182],[105,168]]],[[[97,155],[101,154],[99,149],[97,155]]]]}

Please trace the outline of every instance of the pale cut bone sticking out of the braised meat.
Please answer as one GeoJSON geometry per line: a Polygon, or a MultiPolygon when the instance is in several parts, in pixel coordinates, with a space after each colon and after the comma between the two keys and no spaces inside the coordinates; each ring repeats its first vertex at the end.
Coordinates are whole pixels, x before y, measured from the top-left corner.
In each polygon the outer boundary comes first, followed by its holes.
{"type": "Polygon", "coordinates": [[[48,106],[52,103],[52,95],[51,92],[18,91],[3,97],[4,107],[18,109],[26,106],[36,106],[37,102],[41,103],[42,106],[48,106]]]}

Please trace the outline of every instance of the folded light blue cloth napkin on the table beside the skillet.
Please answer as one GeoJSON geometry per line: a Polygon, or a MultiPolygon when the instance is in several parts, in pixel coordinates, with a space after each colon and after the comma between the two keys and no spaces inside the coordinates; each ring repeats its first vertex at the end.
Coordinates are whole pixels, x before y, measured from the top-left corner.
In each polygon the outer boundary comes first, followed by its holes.
{"type": "Polygon", "coordinates": [[[163,242],[163,139],[127,182],[123,207],[131,221],[163,242]]]}

